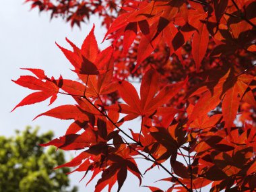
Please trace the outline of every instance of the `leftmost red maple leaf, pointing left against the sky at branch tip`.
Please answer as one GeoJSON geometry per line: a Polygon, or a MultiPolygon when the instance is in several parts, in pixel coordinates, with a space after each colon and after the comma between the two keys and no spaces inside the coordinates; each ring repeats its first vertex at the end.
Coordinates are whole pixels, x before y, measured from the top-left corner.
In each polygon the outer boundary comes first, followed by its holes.
{"type": "MultiPolygon", "coordinates": [[[[37,90],[38,92],[34,92],[26,96],[19,104],[15,106],[15,108],[19,106],[24,106],[28,104],[34,104],[36,102],[42,102],[47,98],[51,98],[50,104],[52,104],[59,92],[59,85],[62,83],[62,77],[60,77],[58,84],[57,81],[52,77],[50,79],[46,75],[44,75],[44,71],[42,69],[25,69],[31,71],[36,75],[36,77],[31,75],[21,76],[17,80],[12,80],[15,84],[23,86],[25,88],[29,88],[30,90],[37,90]]],[[[15,110],[13,108],[13,110],[15,110]]],[[[11,110],[11,111],[13,111],[11,110]]]]}

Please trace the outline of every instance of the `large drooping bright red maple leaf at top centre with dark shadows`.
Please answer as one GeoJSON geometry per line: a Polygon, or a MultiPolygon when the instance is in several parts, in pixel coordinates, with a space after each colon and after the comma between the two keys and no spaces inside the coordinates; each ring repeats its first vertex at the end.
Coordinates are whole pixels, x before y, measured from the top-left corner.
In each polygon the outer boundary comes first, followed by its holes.
{"type": "Polygon", "coordinates": [[[172,52],[173,48],[170,42],[177,32],[176,29],[173,29],[175,27],[172,21],[180,9],[183,12],[182,15],[187,14],[185,1],[174,0],[139,3],[137,7],[129,9],[128,13],[119,15],[108,29],[106,36],[115,32],[116,34],[113,35],[115,38],[123,36],[123,52],[127,53],[129,46],[131,46],[137,36],[137,32],[140,30],[141,40],[139,42],[137,63],[135,65],[135,69],[137,69],[138,65],[156,49],[163,32],[164,40],[170,45],[170,51],[172,52]]]}

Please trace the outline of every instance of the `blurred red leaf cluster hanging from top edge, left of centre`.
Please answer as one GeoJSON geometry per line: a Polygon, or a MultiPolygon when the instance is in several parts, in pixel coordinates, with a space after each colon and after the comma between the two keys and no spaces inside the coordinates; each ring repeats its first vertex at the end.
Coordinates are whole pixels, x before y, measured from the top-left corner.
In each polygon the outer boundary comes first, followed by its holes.
{"type": "Polygon", "coordinates": [[[63,18],[70,22],[71,26],[79,26],[82,22],[90,19],[90,15],[98,15],[102,18],[102,26],[107,28],[116,18],[119,12],[118,5],[123,1],[114,0],[26,0],[31,4],[31,8],[38,8],[39,11],[51,12],[51,18],[63,18]]]}

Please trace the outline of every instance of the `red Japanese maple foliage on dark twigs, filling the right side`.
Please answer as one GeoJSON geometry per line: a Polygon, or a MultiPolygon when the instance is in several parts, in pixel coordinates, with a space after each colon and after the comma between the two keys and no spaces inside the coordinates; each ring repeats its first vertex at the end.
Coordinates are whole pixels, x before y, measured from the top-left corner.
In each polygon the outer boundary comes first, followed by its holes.
{"type": "Polygon", "coordinates": [[[57,44],[76,81],[42,69],[13,81],[36,90],[15,108],[52,104],[58,94],[75,100],[36,117],[73,119],[65,135],[42,144],[81,152],[57,168],[90,171],[90,181],[101,174],[96,192],[115,183],[120,191],[128,171],[141,183],[135,158],[152,162],[146,172],[158,166],[170,175],[160,178],[168,192],[255,190],[255,1],[26,2],[72,27],[98,14],[112,42],[100,51],[93,27],[81,48],[57,44]],[[141,82],[139,94],[131,79],[141,82]],[[139,131],[123,126],[136,118],[139,131]]]}

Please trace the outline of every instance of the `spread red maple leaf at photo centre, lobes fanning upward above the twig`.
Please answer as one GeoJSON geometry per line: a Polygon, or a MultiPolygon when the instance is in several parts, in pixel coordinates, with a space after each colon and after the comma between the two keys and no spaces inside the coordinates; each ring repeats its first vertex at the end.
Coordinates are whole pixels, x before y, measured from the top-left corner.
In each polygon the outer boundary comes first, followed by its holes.
{"type": "Polygon", "coordinates": [[[186,84],[187,79],[177,84],[171,84],[158,91],[158,73],[154,69],[148,70],[143,75],[140,87],[140,98],[133,85],[127,81],[119,82],[118,90],[121,98],[127,104],[115,104],[106,107],[128,114],[123,120],[129,121],[136,117],[150,117],[157,109],[173,98],[186,84]]]}

